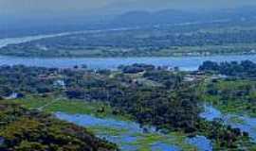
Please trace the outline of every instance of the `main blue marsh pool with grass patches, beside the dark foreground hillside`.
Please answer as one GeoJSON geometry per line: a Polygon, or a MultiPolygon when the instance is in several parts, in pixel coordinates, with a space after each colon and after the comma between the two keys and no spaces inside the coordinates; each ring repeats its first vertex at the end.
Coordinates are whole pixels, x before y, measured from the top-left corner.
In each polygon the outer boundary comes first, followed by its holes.
{"type": "MultiPolygon", "coordinates": [[[[86,126],[92,129],[98,129],[96,134],[105,138],[106,140],[119,144],[121,150],[137,151],[142,148],[158,149],[159,151],[180,151],[180,149],[172,144],[162,142],[161,140],[137,144],[139,140],[143,140],[143,128],[137,123],[119,121],[111,118],[97,118],[91,115],[82,114],[66,114],[64,112],[57,112],[57,118],[74,123],[79,126],[86,126]],[[113,130],[114,129],[114,130],[113,130]]],[[[150,133],[154,133],[151,130],[150,133]]]]}

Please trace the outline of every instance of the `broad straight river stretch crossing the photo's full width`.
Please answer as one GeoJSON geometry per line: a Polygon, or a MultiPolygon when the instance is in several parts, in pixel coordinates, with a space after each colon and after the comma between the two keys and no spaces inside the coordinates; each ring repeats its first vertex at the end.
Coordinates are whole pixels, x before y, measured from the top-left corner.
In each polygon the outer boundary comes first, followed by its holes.
{"type": "Polygon", "coordinates": [[[134,63],[153,64],[155,66],[178,67],[184,71],[194,71],[206,60],[241,61],[251,60],[256,62],[256,55],[238,56],[213,56],[213,57],[174,57],[174,58],[87,58],[87,59],[41,59],[41,58],[18,58],[0,56],[0,65],[40,66],[48,68],[73,68],[85,64],[89,69],[117,69],[120,65],[131,65],[134,63]]]}

